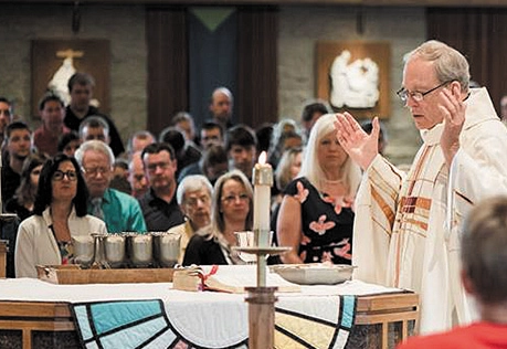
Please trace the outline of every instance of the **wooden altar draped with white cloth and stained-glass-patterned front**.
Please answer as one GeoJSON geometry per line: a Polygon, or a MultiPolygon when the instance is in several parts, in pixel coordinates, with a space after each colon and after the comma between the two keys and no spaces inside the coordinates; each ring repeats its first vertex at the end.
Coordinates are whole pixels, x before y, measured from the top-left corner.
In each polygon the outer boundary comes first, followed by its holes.
{"type": "MultiPolygon", "coordinates": [[[[394,348],[419,316],[418,295],[357,281],[276,296],[275,348],[283,349],[394,348]]],[[[171,283],[0,279],[0,348],[247,348],[244,298],[171,283]]]]}

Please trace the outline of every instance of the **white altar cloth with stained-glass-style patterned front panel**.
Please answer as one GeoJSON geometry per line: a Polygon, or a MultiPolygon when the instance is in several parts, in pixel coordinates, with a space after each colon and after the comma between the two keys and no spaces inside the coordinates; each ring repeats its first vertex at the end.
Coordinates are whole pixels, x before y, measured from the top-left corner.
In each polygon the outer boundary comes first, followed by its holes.
{"type": "MultiPolygon", "coordinates": [[[[101,340],[101,345],[106,348],[109,340],[109,348],[114,348],[120,337],[125,339],[126,336],[130,336],[139,338],[139,342],[149,340],[152,346],[147,348],[167,348],[168,342],[177,341],[188,345],[189,348],[246,348],[249,321],[245,294],[183,292],[171,287],[170,283],[53,285],[32,278],[0,279],[0,300],[64,302],[72,304],[74,309],[78,305],[85,305],[89,309],[89,304],[99,303],[102,306],[104,303],[110,308],[103,313],[116,317],[117,321],[117,317],[124,314],[122,311],[128,308],[128,302],[137,302],[137,309],[142,309],[139,308],[144,306],[140,302],[160,299],[165,310],[160,318],[166,322],[157,324],[155,327],[158,330],[160,326],[167,325],[167,330],[157,335],[156,339],[141,337],[148,332],[146,328],[134,334],[130,331],[128,335],[124,331],[116,338],[115,330],[105,330],[104,337],[87,339],[88,329],[84,328],[81,334],[83,345],[86,348],[95,348],[95,341],[101,340]]],[[[277,293],[275,326],[278,332],[275,334],[275,341],[286,342],[297,338],[297,342],[311,343],[314,348],[328,347],[329,343],[332,348],[342,348],[348,336],[340,322],[344,321],[344,305],[340,304],[342,297],[393,292],[401,290],[350,281],[332,286],[302,286],[300,293],[277,293]],[[314,334],[316,329],[309,328],[310,322],[315,322],[321,329],[314,334]]],[[[77,310],[76,314],[78,315],[77,310]]],[[[104,314],[99,318],[104,317],[104,314]]],[[[87,316],[89,317],[89,314],[87,316]]],[[[353,314],[350,316],[353,319],[353,314]]],[[[154,321],[156,320],[151,320],[150,324],[154,321]]]]}

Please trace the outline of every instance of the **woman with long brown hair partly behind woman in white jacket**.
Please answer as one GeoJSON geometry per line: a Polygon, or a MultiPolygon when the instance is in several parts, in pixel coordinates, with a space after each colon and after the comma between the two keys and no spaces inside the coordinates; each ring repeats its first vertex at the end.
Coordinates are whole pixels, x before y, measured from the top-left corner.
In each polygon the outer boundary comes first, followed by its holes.
{"type": "Polygon", "coordinates": [[[39,176],[41,174],[42,165],[44,165],[46,159],[46,156],[43,154],[29,155],[23,161],[20,186],[12,198],[6,198],[8,199],[6,211],[18,214],[20,221],[24,221],[32,215],[39,176]]]}

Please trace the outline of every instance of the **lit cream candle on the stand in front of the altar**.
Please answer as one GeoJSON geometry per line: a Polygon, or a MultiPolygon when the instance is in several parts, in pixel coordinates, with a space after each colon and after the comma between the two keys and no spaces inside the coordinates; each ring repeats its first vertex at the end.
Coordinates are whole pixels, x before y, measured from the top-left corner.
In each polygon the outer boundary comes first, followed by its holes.
{"type": "MultiPolygon", "coordinates": [[[[257,247],[270,246],[270,212],[271,187],[273,186],[273,169],[266,163],[266,152],[258,157],[258,162],[253,169],[252,181],[254,184],[254,234],[257,247]]],[[[257,286],[266,286],[266,258],[265,254],[257,254],[257,286]]]]}

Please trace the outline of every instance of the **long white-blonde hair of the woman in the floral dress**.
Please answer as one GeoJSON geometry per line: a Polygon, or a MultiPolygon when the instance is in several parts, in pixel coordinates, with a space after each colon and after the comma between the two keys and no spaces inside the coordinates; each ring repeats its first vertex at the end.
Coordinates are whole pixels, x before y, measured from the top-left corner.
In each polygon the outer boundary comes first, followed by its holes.
{"type": "MultiPolygon", "coordinates": [[[[298,174],[298,177],[306,177],[318,190],[321,190],[320,179],[326,178],[323,167],[318,161],[318,145],[324,137],[326,137],[329,133],[335,131],[335,114],[326,114],[319,117],[319,119],[315,123],[308,138],[308,144],[306,145],[302,169],[298,174]]],[[[344,181],[349,188],[349,193],[355,194],[361,182],[361,169],[350,159],[350,157],[347,157],[342,173],[344,181]]]]}

